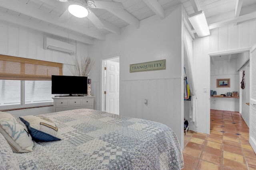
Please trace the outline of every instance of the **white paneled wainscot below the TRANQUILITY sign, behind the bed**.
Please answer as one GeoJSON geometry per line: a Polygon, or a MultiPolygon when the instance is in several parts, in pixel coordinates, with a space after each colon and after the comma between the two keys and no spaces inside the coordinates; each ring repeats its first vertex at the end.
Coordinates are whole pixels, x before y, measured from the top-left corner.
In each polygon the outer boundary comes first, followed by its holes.
{"type": "MultiPolygon", "coordinates": [[[[120,86],[120,91],[123,93],[120,96],[122,115],[157,121],[171,127],[174,132],[180,131],[184,125],[183,113],[180,112],[184,100],[180,86],[182,82],[181,78],[122,81],[120,86]],[[144,104],[145,99],[148,104],[144,104]],[[181,121],[177,122],[177,120],[181,121]]],[[[178,139],[182,139],[180,133],[176,135],[178,139]]],[[[183,147],[183,141],[180,143],[183,147]]]]}

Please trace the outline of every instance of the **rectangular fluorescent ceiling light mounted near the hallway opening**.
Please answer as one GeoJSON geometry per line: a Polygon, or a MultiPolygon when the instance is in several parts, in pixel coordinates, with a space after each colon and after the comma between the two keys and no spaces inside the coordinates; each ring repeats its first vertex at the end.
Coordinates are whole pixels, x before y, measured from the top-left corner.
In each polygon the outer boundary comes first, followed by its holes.
{"type": "Polygon", "coordinates": [[[210,35],[208,24],[203,11],[195,12],[188,17],[198,37],[210,35]]]}

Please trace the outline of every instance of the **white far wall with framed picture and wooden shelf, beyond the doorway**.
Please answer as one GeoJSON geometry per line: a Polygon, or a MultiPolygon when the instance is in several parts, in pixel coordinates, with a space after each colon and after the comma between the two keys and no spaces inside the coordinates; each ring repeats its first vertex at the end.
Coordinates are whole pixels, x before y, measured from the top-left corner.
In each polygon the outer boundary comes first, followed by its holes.
{"type": "MultiPolygon", "coordinates": [[[[227,60],[216,61],[211,64],[211,84],[210,89],[217,92],[217,95],[227,94],[227,92],[238,92],[239,96],[239,72],[236,71],[236,59],[231,59],[230,63],[227,60]],[[230,87],[217,88],[216,79],[230,78],[230,87]]],[[[238,98],[210,98],[210,109],[238,111],[238,98]]]]}

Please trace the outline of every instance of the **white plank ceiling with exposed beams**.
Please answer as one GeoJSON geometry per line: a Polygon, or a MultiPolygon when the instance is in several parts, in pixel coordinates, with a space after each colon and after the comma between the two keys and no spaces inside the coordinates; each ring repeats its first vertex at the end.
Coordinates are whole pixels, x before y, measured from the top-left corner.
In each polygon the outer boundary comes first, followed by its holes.
{"type": "MultiPolygon", "coordinates": [[[[84,0],[87,1],[87,0],[84,0]]],[[[103,1],[103,0],[102,0],[103,1]]],[[[140,27],[140,21],[153,15],[164,19],[164,10],[182,3],[188,15],[203,10],[210,29],[256,18],[256,0],[104,0],[120,2],[122,12],[90,8],[103,23],[96,27],[89,14],[76,18],[68,12],[69,2],[58,0],[0,0],[0,20],[92,44],[104,41],[108,33],[121,34],[122,27],[140,27]],[[63,14],[63,15],[62,15],[63,14]]]]}

